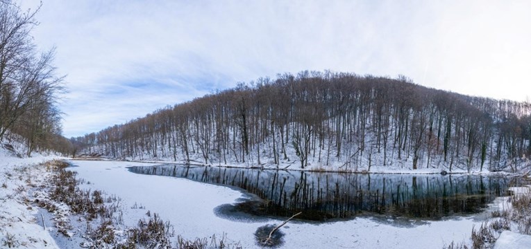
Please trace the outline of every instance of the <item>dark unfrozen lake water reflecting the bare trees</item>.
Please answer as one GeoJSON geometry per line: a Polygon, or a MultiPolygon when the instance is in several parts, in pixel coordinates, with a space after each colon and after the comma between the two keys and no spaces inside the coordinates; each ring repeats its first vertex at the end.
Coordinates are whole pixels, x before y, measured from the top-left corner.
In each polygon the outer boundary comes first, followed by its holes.
{"type": "MultiPolygon", "coordinates": [[[[131,172],[188,178],[230,185],[259,196],[237,204],[259,216],[292,216],[323,221],[367,212],[410,218],[441,219],[480,212],[518,179],[500,176],[348,174],[263,169],[158,165],[130,167],[131,172]]],[[[208,198],[208,197],[205,197],[208,198]]]]}

